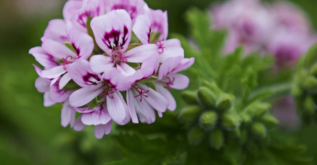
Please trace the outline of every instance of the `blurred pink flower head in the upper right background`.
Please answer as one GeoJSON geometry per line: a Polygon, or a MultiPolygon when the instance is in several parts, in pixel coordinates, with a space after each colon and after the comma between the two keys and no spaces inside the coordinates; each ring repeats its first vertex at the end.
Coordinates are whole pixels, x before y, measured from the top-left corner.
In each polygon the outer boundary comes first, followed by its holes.
{"type": "Polygon", "coordinates": [[[246,53],[273,54],[277,67],[296,64],[317,41],[306,15],[286,2],[263,4],[260,0],[231,0],[214,5],[212,17],[212,28],[228,29],[224,52],[244,45],[246,53]]]}

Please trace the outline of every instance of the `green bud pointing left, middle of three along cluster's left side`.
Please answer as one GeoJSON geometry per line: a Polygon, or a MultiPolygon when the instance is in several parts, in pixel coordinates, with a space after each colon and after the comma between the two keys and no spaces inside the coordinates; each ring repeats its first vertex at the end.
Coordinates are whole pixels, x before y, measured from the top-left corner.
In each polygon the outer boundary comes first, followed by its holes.
{"type": "Polygon", "coordinates": [[[183,122],[194,122],[199,119],[199,115],[203,112],[203,108],[199,106],[185,107],[178,114],[178,119],[183,122]]]}

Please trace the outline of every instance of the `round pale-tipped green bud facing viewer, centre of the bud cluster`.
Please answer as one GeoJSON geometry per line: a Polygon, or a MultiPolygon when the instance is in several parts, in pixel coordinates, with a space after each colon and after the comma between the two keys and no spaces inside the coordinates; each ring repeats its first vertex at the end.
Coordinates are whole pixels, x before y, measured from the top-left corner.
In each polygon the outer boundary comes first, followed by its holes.
{"type": "Polygon", "coordinates": [[[218,115],[215,111],[204,112],[200,116],[199,125],[205,130],[211,130],[217,124],[218,115]]]}

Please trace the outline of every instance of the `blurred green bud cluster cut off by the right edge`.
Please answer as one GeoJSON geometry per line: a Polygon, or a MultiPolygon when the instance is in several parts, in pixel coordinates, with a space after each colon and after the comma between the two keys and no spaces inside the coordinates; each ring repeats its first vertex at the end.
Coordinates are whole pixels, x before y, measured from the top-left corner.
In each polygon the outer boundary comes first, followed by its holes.
{"type": "Polygon", "coordinates": [[[317,45],[299,60],[292,94],[303,121],[317,121],[317,45]]]}

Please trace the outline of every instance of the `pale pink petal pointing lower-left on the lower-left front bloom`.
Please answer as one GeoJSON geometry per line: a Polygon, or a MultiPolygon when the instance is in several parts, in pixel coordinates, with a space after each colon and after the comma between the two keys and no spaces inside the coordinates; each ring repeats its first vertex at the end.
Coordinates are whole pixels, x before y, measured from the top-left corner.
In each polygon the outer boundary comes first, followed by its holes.
{"type": "Polygon", "coordinates": [[[91,85],[89,87],[76,90],[69,97],[70,105],[73,107],[81,107],[86,105],[103,91],[103,86],[104,84],[100,83],[98,85],[91,85]]]}

